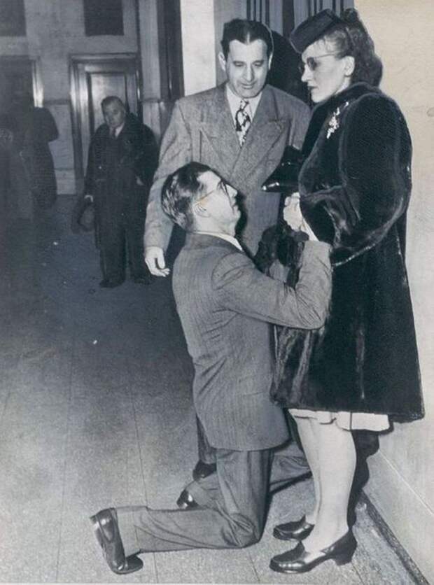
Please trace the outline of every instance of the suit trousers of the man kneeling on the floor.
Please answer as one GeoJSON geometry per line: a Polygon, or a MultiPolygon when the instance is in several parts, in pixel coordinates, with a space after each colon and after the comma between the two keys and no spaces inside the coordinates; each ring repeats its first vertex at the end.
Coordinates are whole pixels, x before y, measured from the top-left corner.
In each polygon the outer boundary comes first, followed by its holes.
{"type": "Polygon", "coordinates": [[[258,542],[265,525],[269,487],[284,486],[309,473],[304,458],[297,459],[292,450],[289,446],[274,455],[269,449],[216,449],[217,472],[186,487],[199,507],[118,508],[125,554],[240,548],[258,542]]]}

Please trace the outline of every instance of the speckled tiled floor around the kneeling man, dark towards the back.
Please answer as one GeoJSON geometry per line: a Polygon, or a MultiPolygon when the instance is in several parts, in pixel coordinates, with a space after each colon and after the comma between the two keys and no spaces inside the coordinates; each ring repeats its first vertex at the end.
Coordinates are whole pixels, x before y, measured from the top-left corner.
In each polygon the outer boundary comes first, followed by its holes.
{"type": "Polygon", "coordinates": [[[169,280],[100,289],[92,234],[71,233],[71,205],[60,197],[0,234],[0,581],[413,583],[363,508],[351,564],[269,570],[287,547],[272,527],[302,514],[310,481],[274,496],[253,547],[148,554],[128,579],[109,571],[88,516],[174,506],[196,460],[192,367],[169,280]]]}

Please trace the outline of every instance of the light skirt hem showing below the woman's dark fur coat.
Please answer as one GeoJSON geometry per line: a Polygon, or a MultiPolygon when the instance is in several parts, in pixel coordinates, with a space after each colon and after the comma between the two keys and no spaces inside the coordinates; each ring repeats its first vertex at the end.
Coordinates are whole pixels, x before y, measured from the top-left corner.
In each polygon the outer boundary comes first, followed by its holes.
{"type": "Polygon", "coordinates": [[[289,413],[295,418],[316,418],[318,423],[327,425],[336,421],[337,426],[345,430],[388,430],[391,423],[387,414],[372,414],[370,412],[329,412],[327,410],[309,410],[290,408],[289,413]]]}

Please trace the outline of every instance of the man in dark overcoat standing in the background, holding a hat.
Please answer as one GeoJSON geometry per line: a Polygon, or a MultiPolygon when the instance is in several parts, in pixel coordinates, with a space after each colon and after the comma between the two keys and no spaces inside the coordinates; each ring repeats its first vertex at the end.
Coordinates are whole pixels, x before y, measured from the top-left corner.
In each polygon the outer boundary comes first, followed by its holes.
{"type": "Polygon", "coordinates": [[[116,96],[101,102],[105,123],[92,137],[85,177],[85,199],[94,201],[97,245],[103,280],[113,288],[125,280],[148,284],[143,232],[146,202],[157,166],[158,150],[150,128],[116,96]]]}

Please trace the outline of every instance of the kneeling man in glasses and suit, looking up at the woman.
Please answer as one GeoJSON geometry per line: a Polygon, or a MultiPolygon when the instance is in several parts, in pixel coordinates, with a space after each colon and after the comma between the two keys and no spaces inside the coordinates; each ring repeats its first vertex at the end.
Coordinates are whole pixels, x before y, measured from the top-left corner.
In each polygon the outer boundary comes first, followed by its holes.
{"type": "Polygon", "coordinates": [[[195,409],[216,449],[217,471],[188,486],[195,500],[189,509],[120,507],[92,516],[106,561],[121,574],[141,568],[141,552],[258,542],[269,480],[276,486],[293,479],[292,457],[272,451],[286,441],[288,429],[282,409],[269,400],[269,323],[323,325],[329,248],[306,243],[295,288],[265,276],[234,237],[236,195],[197,162],[170,175],[163,188],[165,212],[187,232],[174,265],[174,296],[195,366],[195,409]]]}

